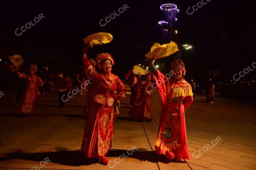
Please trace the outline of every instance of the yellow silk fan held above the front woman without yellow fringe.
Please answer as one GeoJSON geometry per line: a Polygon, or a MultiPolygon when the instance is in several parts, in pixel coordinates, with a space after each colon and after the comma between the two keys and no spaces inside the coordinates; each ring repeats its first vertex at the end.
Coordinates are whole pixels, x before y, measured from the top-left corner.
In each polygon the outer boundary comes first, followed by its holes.
{"type": "Polygon", "coordinates": [[[84,43],[89,42],[89,47],[92,47],[93,44],[109,43],[113,39],[113,36],[109,33],[95,33],[84,39],[84,43]]]}

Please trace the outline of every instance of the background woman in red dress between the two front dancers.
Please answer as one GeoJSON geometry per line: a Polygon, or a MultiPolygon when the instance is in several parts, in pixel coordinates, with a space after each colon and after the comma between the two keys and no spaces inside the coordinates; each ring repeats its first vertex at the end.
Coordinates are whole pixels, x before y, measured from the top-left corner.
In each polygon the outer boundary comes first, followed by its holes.
{"type": "Polygon", "coordinates": [[[151,80],[151,75],[146,74],[145,81],[141,81],[141,75],[139,74],[139,85],[142,86],[140,98],[136,101],[134,106],[129,111],[128,115],[135,119],[152,121],[150,119],[151,108],[151,98],[153,94],[153,87],[151,80]]]}

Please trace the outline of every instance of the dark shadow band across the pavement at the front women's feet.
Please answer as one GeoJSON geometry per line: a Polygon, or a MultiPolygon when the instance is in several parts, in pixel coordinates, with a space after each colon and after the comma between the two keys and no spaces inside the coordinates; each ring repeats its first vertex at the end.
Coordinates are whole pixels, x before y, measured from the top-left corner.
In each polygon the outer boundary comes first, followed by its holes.
{"type": "MultiPolygon", "coordinates": [[[[49,158],[49,162],[56,163],[60,165],[67,166],[82,166],[82,165],[91,165],[94,163],[98,163],[98,158],[85,158],[84,155],[79,151],[71,151],[67,150],[64,147],[55,147],[56,152],[38,152],[38,153],[26,153],[22,151],[17,151],[13,153],[6,153],[1,157],[0,161],[6,161],[11,159],[23,159],[40,162],[45,158],[49,158]]],[[[146,149],[140,148],[139,150],[122,150],[122,149],[111,149],[109,153],[106,154],[106,157],[118,157],[121,159],[125,158],[134,158],[140,161],[149,161],[149,162],[162,162],[162,163],[170,163],[170,162],[180,162],[186,163],[185,161],[177,161],[177,160],[169,160],[162,155],[158,155],[152,151],[148,151],[146,149]],[[132,152],[133,151],[133,152],[132,152]],[[130,155],[129,155],[130,154],[130,155]],[[123,156],[123,157],[122,157],[123,156]],[[157,160],[157,161],[156,161],[157,160]]],[[[109,158],[112,160],[113,158],[109,158]]]]}

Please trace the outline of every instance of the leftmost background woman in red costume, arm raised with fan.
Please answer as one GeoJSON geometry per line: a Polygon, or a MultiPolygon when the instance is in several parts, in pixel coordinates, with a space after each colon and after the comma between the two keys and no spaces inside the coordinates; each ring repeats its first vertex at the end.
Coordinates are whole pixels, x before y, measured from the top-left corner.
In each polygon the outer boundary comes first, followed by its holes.
{"type": "Polygon", "coordinates": [[[16,109],[16,113],[34,115],[35,113],[35,104],[36,97],[38,92],[38,87],[43,86],[43,81],[39,76],[35,75],[37,71],[37,66],[32,64],[29,68],[29,75],[20,73],[17,71],[17,74],[20,78],[27,79],[27,86],[25,92],[22,96],[22,99],[16,109]]]}

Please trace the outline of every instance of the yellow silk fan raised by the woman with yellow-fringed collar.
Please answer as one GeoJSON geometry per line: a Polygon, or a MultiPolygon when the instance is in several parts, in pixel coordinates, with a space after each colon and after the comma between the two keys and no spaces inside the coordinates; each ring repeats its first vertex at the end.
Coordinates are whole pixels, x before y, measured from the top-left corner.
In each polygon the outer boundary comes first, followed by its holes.
{"type": "Polygon", "coordinates": [[[169,55],[178,51],[178,46],[175,42],[170,42],[168,44],[159,44],[157,42],[151,47],[151,50],[145,55],[147,58],[155,57],[155,59],[168,57],[169,55]]]}

